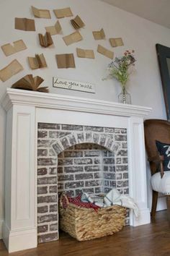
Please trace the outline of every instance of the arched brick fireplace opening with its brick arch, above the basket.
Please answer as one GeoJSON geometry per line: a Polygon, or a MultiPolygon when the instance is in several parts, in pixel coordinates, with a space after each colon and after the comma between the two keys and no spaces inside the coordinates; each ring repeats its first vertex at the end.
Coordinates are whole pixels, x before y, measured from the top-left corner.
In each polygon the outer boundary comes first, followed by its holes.
{"type": "Polygon", "coordinates": [[[51,147],[58,157],[59,193],[105,193],[116,187],[115,155],[120,143],[110,136],[71,132],[51,147]]]}

